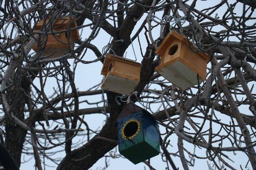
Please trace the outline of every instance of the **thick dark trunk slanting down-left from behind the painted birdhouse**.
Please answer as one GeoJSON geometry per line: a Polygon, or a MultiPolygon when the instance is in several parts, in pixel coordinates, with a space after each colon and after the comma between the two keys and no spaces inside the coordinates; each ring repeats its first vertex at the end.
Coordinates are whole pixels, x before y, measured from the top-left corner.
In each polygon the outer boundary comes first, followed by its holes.
{"type": "MultiPolygon", "coordinates": [[[[109,101],[115,101],[115,93],[107,92],[107,96],[109,101]]],[[[96,137],[117,140],[115,121],[121,110],[122,106],[114,105],[112,108],[110,107],[110,117],[96,137]]],[[[92,138],[84,146],[72,150],[71,154],[66,155],[57,170],[87,170],[117,145],[117,143],[97,139],[96,137],[92,138]]]]}

